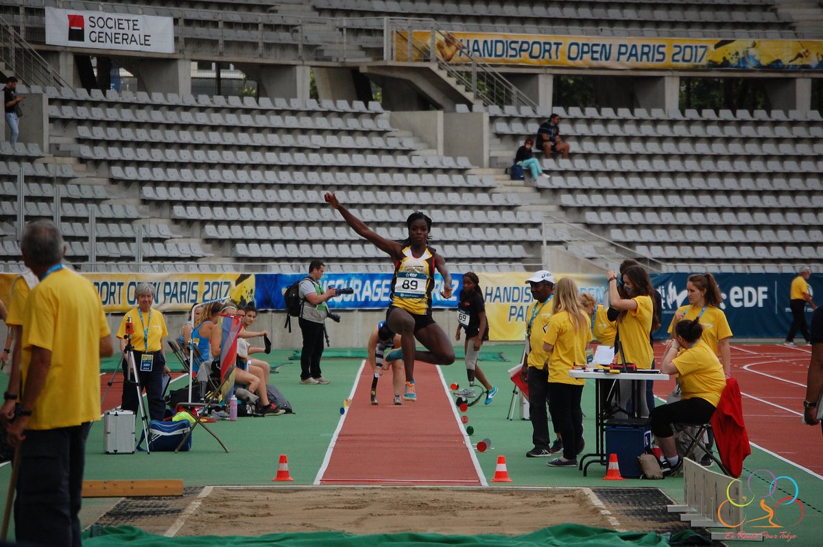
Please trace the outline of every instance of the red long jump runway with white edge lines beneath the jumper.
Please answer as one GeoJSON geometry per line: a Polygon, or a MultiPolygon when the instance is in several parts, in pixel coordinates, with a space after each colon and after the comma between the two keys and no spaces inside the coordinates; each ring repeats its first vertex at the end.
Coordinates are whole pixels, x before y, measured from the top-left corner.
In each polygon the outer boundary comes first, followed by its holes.
{"type": "Polygon", "coordinates": [[[437,367],[416,363],[417,401],[402,406],[393,405],[391,373],[372,406],[372,378],[363,366],[314,484],[486,485],[437,367]]]}

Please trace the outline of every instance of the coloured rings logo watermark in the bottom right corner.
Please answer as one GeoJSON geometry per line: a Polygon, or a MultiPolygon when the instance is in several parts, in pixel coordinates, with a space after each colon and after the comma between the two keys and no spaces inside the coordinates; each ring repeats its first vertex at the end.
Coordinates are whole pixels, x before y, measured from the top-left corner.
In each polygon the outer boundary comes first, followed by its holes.
{"type": "Polygon", "coordinates": [[[788,475],[775,476],[769,470],[759,469],[752,471],[746,479],[747,494],[742,496],[742,503],[737,503],[732,499],[732,484],[740,482],[741,479],[732,480],[726,487],[726,499],[718,505],[717,517],[718,522],[727,528],[765,528],[765,529],[780,529],[780,533],[769,533],[768,531],[760,532],[759,534],[751,534],[746,532],[729,532],[726,539],[741,539],[738,535],[762,535],[765,539],[783,539],[791,541],[796,535],[790,534],[786,528],[797,526],[802,522],[805,515],[805,508],[797,496],[800,494],[800,489],[797,486],[797,481],[788,475]],[[758,473],[765,473],[771,480],[769,488],[765,493],[759,493],[758,486],[765,482],[764,477],[760,477],[758,473]],[[754,479],[754,481],[752,481],[754,479]],[[792,495],[786,495],[778,498],[778,489],[782,492],[791,492],[792,495]],[[740,522],[726,522],[723,520],[723,507],[726,504],[732,505],[736,508],[741,508],[743,511],[743,518],[740,522]]]}

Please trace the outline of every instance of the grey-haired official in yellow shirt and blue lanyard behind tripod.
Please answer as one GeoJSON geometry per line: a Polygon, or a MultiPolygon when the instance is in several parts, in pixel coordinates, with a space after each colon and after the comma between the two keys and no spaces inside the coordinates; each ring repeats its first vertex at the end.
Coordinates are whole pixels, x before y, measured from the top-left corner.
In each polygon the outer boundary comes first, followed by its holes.
{"type": "MultiPolygon", "coordinates": [[[[151,420],[165,418],[165,401],[163,401],[163,376],[170,373],[163,355],[163,339],[169,335],[165,327],[163,314],[151,308],[154,304],[154,288],[148,283],[140,283],[135,289],[137,308],[123,316],[117,331],[120,350],[125,351],[127,324],[130,322],[133,333],[129,336],[133,347],[134,364],[137,367],[137,381],[146,390],[149,416],[151,420]]],[[[137,413],[137,387],[128,365],[128,355],[123,355],[123,410],[137,413]]]]}

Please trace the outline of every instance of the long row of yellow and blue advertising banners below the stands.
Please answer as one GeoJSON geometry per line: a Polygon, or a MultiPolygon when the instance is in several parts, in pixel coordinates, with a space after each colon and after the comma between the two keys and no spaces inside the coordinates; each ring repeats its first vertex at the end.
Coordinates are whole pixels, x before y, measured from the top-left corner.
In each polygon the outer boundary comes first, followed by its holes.
{"type": "MultiPolygon", "coordinates": [[[[135,290],[141,282],[155,288],[155,304],[162,311],[188,312],[194,304],[212,299],[231,299],[239,304],[253,302],[258,309],[283,310],[283,293],[305,274],[121,274],[84,273],[100,294],[107,313],[123,313],[137,305],[135,290]]],[[[532,294],[526,282],[530,272],[479,273],[480,286],[486,300],[486,318],[493,341],[522,341],[526,332],[526,310],[532,304],[532,294]]],[[[605,275],[556,273],[556,279],[570,276],[579,286],[593,294],[597,302],[607,300],[605,275]]],[[[792,274],[717,274],[723,293],[723,312],[726,313],[736,338],[776,338],[786,336],[791,313],[788,294],[792,274]]],[[[0,299],[11,301],[12,282],[16,275],[0,274],[0,299]]],[[[667,328],[678,307],[688,304],[686,280],[688,274],[672,273],[652,276],[654,287],[663,297],[663,320],[656,338],[666,338],[667,328]]],[[[391,273],[328,273],[320,281],[323,290],[328,286],[351,287],[353,294],[338,296],[330,301],[331,308],[385,309],[391,293],[391,273]]],[[[435,308],[457,308],[461,273],[452,274],[454,296],[443,299],[442,277],[435,276],[435,308]]],[[[823,276],[809,279],[812,296],[823,294],[823,276]]],[[[811,308],[807,306],[807,319],[811,308]]]]}

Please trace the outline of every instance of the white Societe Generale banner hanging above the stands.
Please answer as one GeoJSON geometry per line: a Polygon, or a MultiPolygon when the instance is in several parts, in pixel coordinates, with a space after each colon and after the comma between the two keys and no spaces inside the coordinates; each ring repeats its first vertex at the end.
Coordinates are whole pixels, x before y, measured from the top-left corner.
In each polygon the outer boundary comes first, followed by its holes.
{"type": "Polygon", "coordinates": [[[174,53],[172,17],[86,12],[58,7],[46,7],[45,16],[46,44],[174,53]]]}

